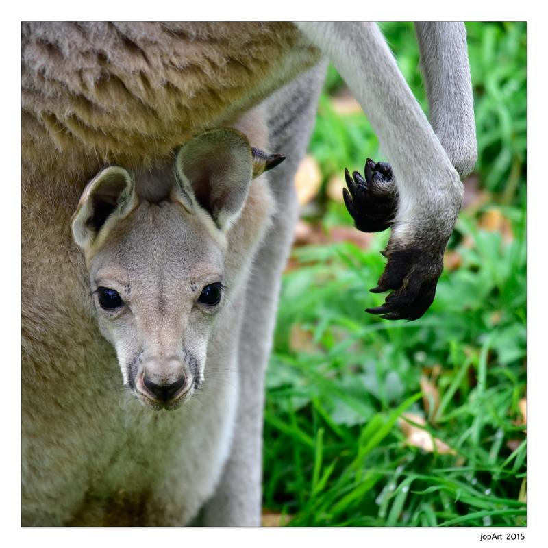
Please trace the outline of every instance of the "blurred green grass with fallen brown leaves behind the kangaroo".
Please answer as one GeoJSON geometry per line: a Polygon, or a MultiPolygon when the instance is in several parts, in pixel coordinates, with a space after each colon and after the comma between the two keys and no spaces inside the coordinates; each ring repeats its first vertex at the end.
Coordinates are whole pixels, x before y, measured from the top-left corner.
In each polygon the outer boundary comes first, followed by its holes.
{"type": "MultiPolygon", "coordinates": [[[[379,26],[428,114],[412,24],[379,26]]],[[[389,231],[353,228],[344,170],[387,159],[329,66],[267,373],[264,525],[526,525],[527,25],[466,30],[478,160],[417,321],[364,312],[389,231]]]]}

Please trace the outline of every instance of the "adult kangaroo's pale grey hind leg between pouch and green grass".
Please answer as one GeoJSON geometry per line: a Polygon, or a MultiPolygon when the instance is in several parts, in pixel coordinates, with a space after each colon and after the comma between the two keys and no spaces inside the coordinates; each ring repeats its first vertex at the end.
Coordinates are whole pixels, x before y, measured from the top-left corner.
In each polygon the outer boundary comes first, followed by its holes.
{"type": "Polygon", "coordinates": [[[206,506],[206,525],[258,525],[262,497],[264,373],[271,351],[282,271],[299,214],[293,180],[314,127],[316,103],[326,68],[327,63],[321,62],[265,103],[271,150],[292,153],[269,172],[276,210],[272,227],[253,258],[251,275],[242,295],[244,306],[238,341],[241,397],[234,444],[216,494],[206,506]]]}

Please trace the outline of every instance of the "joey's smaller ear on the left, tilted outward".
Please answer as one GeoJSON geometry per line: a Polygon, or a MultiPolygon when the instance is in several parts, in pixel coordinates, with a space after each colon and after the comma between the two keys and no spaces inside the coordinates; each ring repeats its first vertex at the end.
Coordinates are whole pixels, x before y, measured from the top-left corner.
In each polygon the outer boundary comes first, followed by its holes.
{"type": "Polygon", "coordinates": [[[72,218],[73,237],[84,251],[95,242],[107,221],[124,219],[138,205],[134,179],[123,167],[99,171],[86,185],[72,218]]]}

